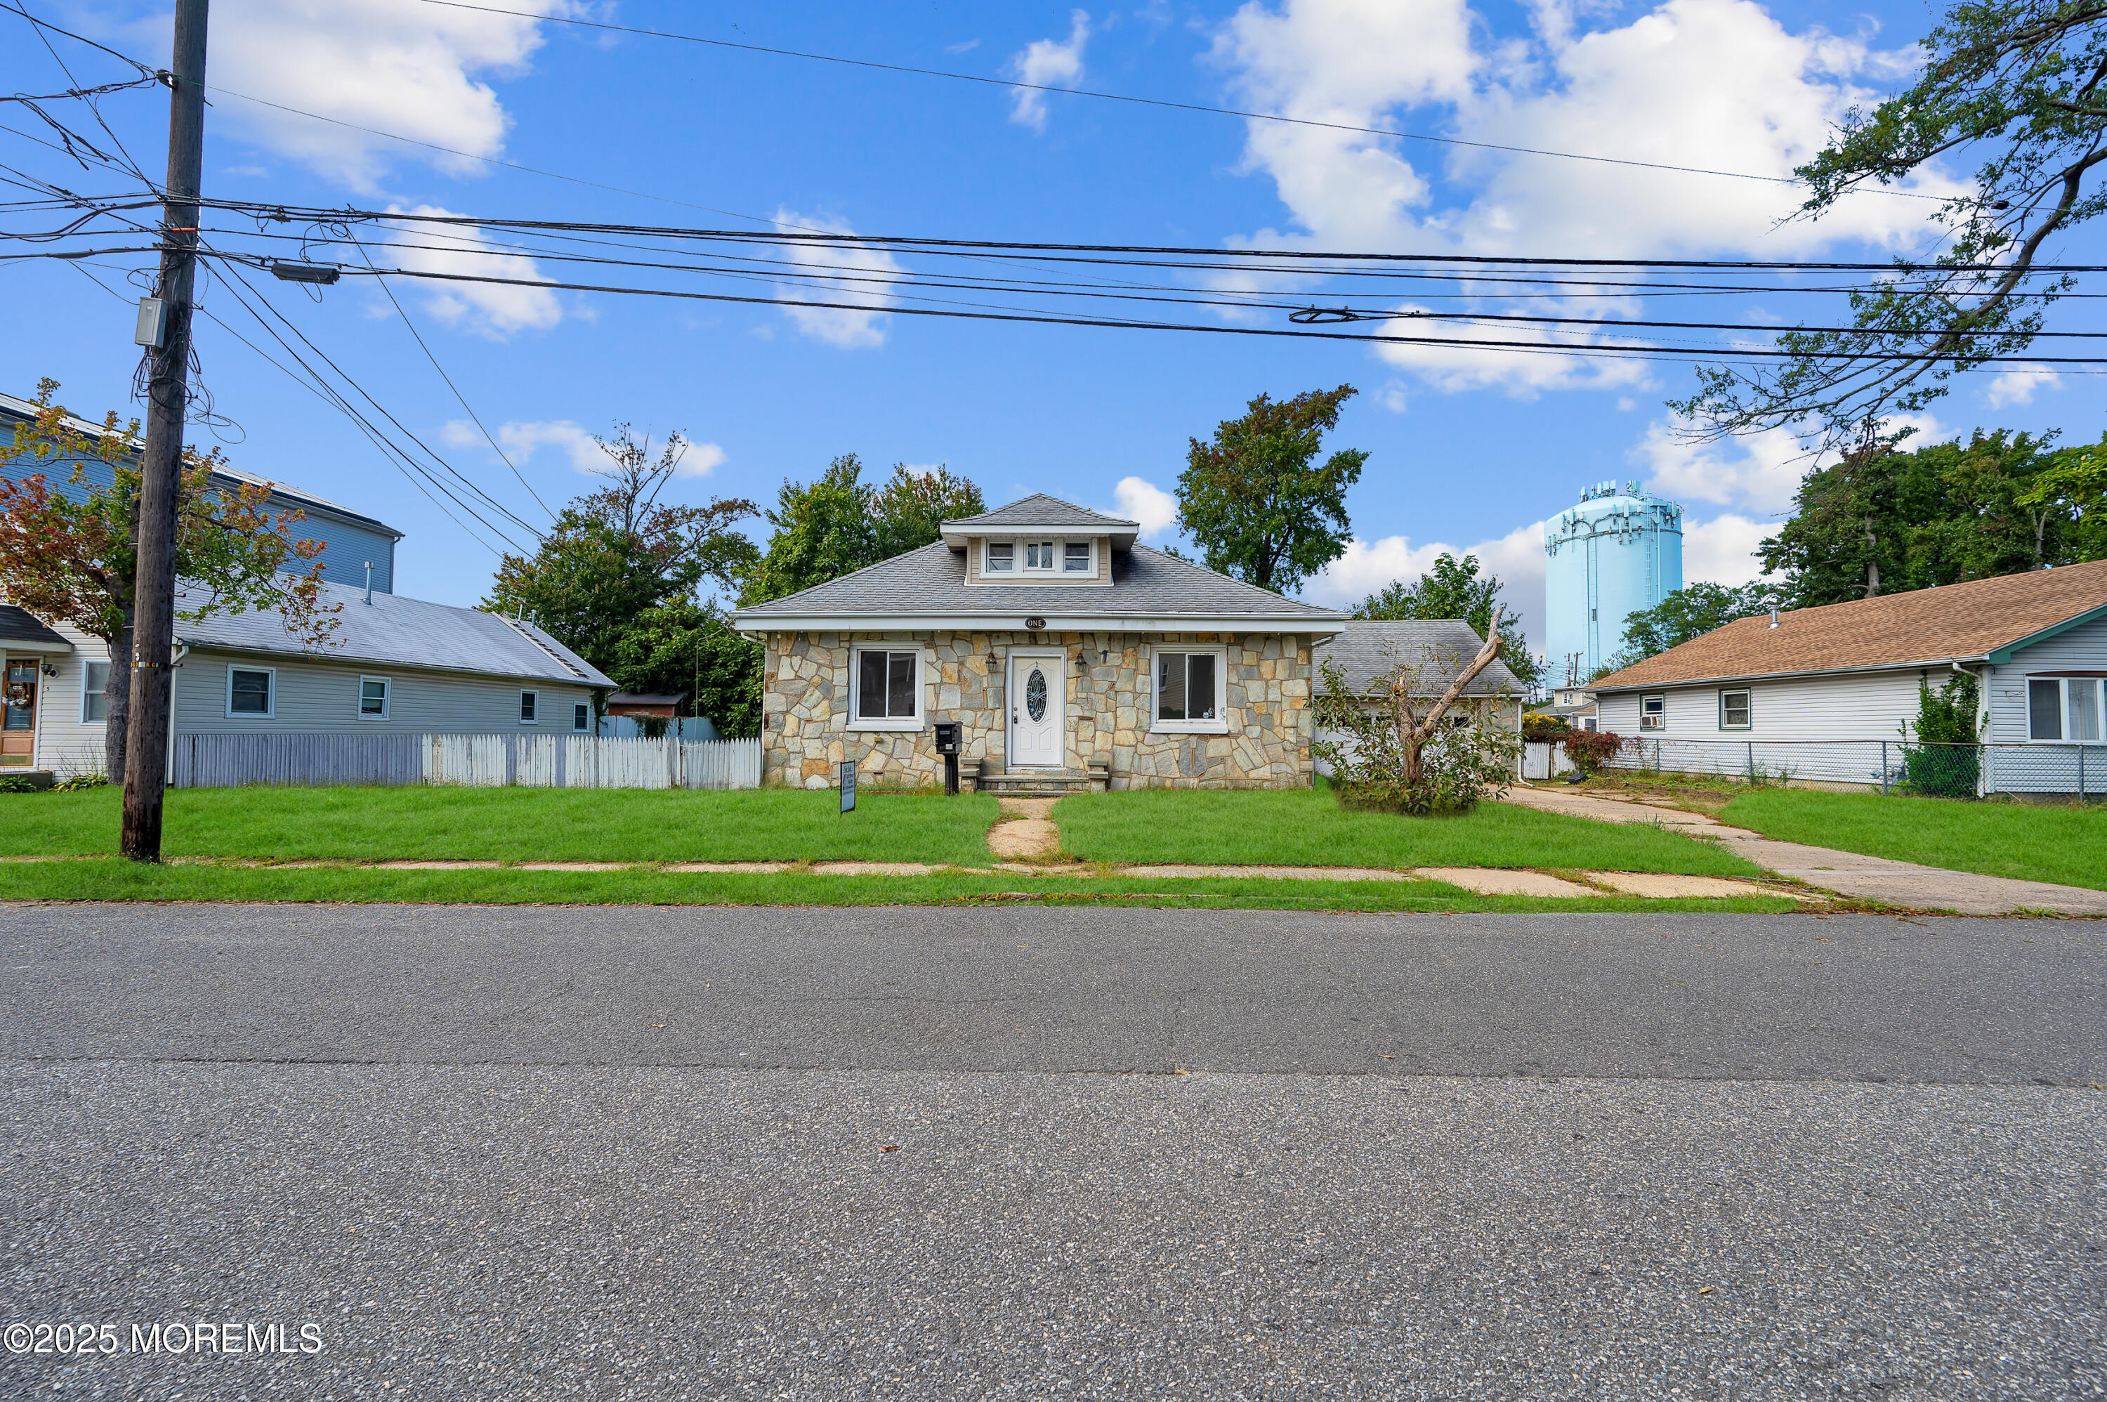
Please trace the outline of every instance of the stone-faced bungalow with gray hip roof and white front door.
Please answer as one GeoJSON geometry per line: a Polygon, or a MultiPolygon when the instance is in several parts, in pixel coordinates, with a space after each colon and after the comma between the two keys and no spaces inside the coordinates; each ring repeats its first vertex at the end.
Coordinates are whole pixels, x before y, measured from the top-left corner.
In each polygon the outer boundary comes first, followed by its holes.
{"type": "Polygon", "coordinates": [[[988,791],[1311,782],[1311,647],[1344,618],[1030,495],[740,609],[765,643],[763,784],[938,784],[936,725],[988,791]]]}

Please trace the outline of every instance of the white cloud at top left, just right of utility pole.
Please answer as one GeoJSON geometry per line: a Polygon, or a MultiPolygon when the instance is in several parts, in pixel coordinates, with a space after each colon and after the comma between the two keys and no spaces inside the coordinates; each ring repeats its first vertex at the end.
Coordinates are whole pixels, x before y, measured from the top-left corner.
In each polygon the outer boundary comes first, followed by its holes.
{"type": "MultiPolygon", "coordinates": [[[[569,0],[506,8],[567,13],[569,0]]],[[[166,42],[166,19],[154,21],[166,42]]],[[[215,86],[337,122],[375,126],[470,156],[497,156],[512,118],[485,78],[516,76],[541,44],[533,17],[402,0],[219,0],[213,6],[215,86]]],[[[228,97],[219,120],[324,177],[373,194],[405,156],[451,175],[485,167],[464,156],[316,122],[228,97]]]]}

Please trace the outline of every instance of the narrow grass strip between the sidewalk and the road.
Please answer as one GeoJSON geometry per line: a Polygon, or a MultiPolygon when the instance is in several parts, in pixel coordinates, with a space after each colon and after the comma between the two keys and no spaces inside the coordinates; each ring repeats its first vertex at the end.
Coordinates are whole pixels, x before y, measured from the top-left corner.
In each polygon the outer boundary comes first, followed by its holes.
{"type": "Polygon", "coordinates": [[[1473,896],[1437,881],[1123,881],[1013,873],[931,877],[668,875],[659,871],[375,871],[0,862],[0,900],[261,900],[424,904],[1110,904],[1281,911],[1795,911],[1783,896],[1473,896]]]}

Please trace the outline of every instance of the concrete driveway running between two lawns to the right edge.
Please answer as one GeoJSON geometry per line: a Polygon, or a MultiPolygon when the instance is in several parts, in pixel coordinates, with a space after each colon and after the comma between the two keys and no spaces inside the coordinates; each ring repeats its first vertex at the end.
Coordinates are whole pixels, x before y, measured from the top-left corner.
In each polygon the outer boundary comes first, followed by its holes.
{"type": "Polygon", "coordinates": [[[1736,829],[1667,803],[1622,799],[1601,793],[1555,786],[1515,786],[1507,795],[1517,807],[1547,814],[1595,818],[1597,822],[1652,822],[1662,829],[1721,843],[1728,852],[1749,858],[1780,877],[1795,877],[1854,900],[1924,911],[1957,911],[1962,915],[2008,915],[2012,911],[2054,911],[2056,915],[2107,915],[2107,892],[2048,881],[2014,881],[1983,877],[1972,871],[1919,866],[1863,852],[1810,848],[1797,841],[1772,841],[1761,833],[1736,829]]]}

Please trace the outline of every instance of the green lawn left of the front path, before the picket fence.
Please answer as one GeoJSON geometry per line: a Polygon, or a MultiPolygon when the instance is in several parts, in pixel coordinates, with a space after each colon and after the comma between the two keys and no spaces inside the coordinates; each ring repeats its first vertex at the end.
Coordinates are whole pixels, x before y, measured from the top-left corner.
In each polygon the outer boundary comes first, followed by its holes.
{"type": "MultiPolygon", "coordinates": [[[[114,854],[116,788],[0,795],[0,854],[114,854]]],[[[832,788],[173,788],[166,856],[988,864],[988,797],[832,788]]]]}

